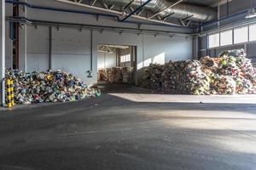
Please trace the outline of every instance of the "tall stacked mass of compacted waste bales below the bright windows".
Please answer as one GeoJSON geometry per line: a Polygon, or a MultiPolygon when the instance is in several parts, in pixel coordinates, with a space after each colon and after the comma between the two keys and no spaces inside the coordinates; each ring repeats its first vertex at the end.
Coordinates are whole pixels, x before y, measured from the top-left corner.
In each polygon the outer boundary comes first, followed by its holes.
{"type": "Polygon", "coordinates": [[[243,49],[224,51],[218,58],[151,64],[143,87],[170,94],[256,94],[256,69],[243,49]]]}

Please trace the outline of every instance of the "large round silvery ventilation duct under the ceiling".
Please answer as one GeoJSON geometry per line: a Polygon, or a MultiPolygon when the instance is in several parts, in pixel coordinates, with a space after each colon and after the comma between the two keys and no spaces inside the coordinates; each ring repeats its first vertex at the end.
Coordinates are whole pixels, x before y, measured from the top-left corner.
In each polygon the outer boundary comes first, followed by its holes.
{"type": "MultiPolygon", "coordinates": [[[[104,0],[104,3],[107,3],[109,5],[116,4],[120,6],[125,6],[128,3],[131,3],[131,1],[132,0],[104,0]]],[[[138,7],[146,2],[147,0],[134,0],[131,5],[134,7],[138,7]]],[[[171,14],[171,18],[180,20],[189,18],[189,20],[193,21],[206,22],[214,20],[217,16],[217,13],[212,8],[198,7],[184,3],[178,3],[173,8],[168,8],[172,6],[172,4],[174,3],[167,2],[166,0],[152,0],[145,6],[145,8],[150,9],[154,13],[157,13],[161,9],[166,8],[166,10],[159,14],[161,17],[165,17],[171,14]]]]}

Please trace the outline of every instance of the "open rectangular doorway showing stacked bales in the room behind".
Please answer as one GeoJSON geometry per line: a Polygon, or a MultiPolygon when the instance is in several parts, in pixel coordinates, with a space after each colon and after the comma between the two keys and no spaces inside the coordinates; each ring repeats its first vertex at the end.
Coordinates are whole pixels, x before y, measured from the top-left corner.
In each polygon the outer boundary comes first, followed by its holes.
{"type": "Polygon", "coordinates": [[[99,83],[135,83],[137,49],[129,45],[97,46],[99,83]]]}

